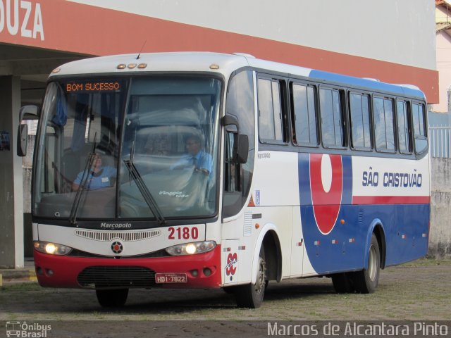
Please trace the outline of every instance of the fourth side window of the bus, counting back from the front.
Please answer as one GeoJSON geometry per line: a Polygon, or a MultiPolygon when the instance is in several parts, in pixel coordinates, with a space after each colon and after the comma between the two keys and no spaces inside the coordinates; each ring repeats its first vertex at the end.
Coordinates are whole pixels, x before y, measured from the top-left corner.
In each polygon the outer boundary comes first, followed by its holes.
{"type": "Polygon", "coordinates": [[[371,149],[369,95],[350,94],[351,147],[371,149]]]}

